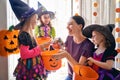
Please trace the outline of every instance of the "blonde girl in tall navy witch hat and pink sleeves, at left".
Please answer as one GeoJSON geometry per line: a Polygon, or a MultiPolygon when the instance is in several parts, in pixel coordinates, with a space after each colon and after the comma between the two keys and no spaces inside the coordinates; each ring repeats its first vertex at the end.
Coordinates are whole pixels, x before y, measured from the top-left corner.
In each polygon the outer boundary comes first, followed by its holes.
{"type": "Polygon", "coordinates": [[[18,42],[20,59],[14,71],[16,80],[45,80],[45,69],[41,60],[41,50],[48,44],[37,45],[32,29],[37,24],[37,11],[21,0],[9,0],[11,7],[20,20],[15,28],[20,30],[18,42]]]}

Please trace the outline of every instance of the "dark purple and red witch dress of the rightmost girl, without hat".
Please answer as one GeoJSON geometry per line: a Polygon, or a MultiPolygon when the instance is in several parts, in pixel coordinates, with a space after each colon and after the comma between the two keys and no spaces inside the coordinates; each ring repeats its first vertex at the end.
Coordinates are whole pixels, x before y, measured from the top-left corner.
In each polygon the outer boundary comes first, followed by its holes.
{"type": "MultiPolygon", "coordinates": [[[[108,50],[109,49],[106,49],[104,53],[101,53],[99,55],[96,55],[96,53],[94,53],[93,58],[101,62],[106,62],[107,60],[114,60],[117,52],[115,50],[109,50],[110,52],[108,52],[108,50]]],[[[117,71],[115,68],[112,68],[111,70],[106,70],[98,67],[95,64],[93,64],[92,68],[99,74],[98,80],[114,80],[114,78],[119,74],[119,71],[117,71]]]]}

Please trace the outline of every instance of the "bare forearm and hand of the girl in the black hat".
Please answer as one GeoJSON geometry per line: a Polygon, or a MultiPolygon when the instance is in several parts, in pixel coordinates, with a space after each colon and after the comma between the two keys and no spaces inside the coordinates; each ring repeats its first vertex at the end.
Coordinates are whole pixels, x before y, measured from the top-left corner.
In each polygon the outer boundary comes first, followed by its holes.
{"type": "Polygon", "coordinates": [[[111,70],[114,64],[113,60],[107,60],[106,62],[101,62],[93,59],[92,57],[89,57],[88,60],[96,64],[97,66],[107,70],[111,70]]]}

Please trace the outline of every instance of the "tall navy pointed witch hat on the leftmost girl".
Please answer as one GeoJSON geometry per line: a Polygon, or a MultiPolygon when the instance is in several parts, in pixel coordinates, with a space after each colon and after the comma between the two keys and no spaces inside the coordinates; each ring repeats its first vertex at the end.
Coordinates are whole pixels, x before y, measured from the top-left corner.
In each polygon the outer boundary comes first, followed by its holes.
{"type": "Polygon", "coordinates": [[[30,8],[26,3],[24,3],[21,0],[9,0],[9,1],[12,10],[14,11],[18,20],[21,20],[21,18],[28,18],[36,13],[36,11],[33,8],[30,8]]]}

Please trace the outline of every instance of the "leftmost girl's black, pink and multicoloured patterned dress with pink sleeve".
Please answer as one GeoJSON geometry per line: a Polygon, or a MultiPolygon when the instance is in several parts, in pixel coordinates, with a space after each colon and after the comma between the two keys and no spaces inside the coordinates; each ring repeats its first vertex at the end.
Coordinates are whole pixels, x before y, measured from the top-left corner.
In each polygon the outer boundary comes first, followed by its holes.
{"type": "Polygon", "coordinates": [[[16,79],[42,80],[42,78],[45,78],[45,69],[40,57],[40,49],[37,47],[34,38],[31,38],[27,32],[21,32],[18,36],[18,41],[21,58],[18,60],[18,65],[13,73],[16,79]],[[27,49],[25,50],[26,47],[29,47],[28,51],[27,49]],[[32,55],[29,56],[29,54],[32,55]]]}

